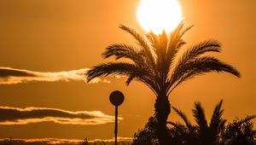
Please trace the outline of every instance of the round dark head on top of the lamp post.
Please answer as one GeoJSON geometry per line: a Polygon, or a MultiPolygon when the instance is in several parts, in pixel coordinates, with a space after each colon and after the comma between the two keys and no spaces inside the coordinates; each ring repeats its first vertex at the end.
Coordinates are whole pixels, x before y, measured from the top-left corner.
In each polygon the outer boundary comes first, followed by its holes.
{"type": "Polygon", "coordinates": [[[124,100],[125,100],[125,96],[119,90],[114,90],[109,96],[109,101],[113,104],[113,106],[116,106],[116,107],[121,105],[124,102],[124,100]]]}

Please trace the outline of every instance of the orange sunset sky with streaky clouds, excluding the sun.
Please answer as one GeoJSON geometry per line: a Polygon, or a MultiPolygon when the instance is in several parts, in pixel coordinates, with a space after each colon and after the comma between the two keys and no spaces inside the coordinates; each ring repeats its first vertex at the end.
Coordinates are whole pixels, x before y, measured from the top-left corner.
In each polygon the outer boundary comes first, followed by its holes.
{"type": "MultiPolygon", "coordinates": [[[[256,1],[179,0],[183,19],[194,27],[185,47],[218,39],[216,56],[241,72],[199,76],[177,87],[173,106],[192,119],[195,101],[207,117],[224,99],[224,117],[256,113],[256,1]]],[[[145,33],[137,20],[140,0],[0,1],[0,138],[113,138],[113,90],[125,94],[119,107],[119,136],[132,137],[154,113],[154,93],[125,78],[84,82],[84,73],[103,60],[109,44],[134,40],[120,24],[145,33]],[[50,117],[49,117],[50,116],[50,117]]],[[[154,9],[152,9],[154,10],[154,9]]],[[[168,17],[166,17],[168,19],[168,17]]],[[[177,120],[171,113],[170,120],[177,120]]],[[[255,119],[254,121],[255,122],[255,119]]],[[[256,123],[256,122],[255,122],[256,123]]]]}

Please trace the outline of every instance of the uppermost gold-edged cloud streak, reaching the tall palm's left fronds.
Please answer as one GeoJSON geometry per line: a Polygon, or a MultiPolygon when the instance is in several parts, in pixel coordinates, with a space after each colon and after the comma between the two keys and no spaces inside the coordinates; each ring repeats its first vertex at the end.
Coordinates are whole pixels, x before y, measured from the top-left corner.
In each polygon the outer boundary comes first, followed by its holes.
{"type": "MultiPolygon", "coordinates": [[[[62,72],[35,72],[11,67],[0,67],[0,84],[21,84],[27,82],[84,81],[89,68],[62,72]]],[[[109,83],[106,79],[95,78],[90,84],[109,83]]]]}

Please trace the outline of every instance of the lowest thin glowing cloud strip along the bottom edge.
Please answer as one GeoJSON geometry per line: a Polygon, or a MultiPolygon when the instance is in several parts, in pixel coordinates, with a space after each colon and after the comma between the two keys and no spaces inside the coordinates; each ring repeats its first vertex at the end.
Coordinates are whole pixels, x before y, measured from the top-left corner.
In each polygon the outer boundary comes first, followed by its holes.
{"type": "MultiPolygon", "coordinates": [[[[119,142],[131,142],[131,137],[118,137],[119,142]]],[[[2,138],[0,139],[0,143],[3,144],[4,142],[9,142],[9,138],[2,138]]],[[[12,143],[14,144],[20,144],[20,145],[38,145],[38,144],[59,144],[59,145],[74,145],[78,144],[79,142],[82,142],[82,140],[79,139],[60,139],[60,138],[33,138],[33,139],[12,139],[12,143]]],[[[105,142],[106,145],[112,145],[114,142],[114,139],[107,139],[107,140],[101,140],[101,139],[95,139],[90,140],[90,144],[94,143],[100,143],[105,142]]]]}

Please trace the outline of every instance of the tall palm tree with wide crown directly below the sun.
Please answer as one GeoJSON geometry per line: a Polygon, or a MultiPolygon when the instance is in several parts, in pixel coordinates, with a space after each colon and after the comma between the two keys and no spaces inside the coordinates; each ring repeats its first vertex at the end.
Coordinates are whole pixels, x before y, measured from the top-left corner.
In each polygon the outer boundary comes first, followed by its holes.
{"type": "Polygon", "coordinates": [[[114,56],[116,60],[125,58],[130,61],[115,61],[100,64],[86,73],[87,81],[108,75],[127,76],[126,84],[133,79],[146,84],[154,92],[154,116],[158,121],[158,139],[160,144],[166,144],[166,120],[171,113],[168,96],[178,84],[189,78],[211,72],[226,72],[240,77],[236,68],[231,67],[217,58],[205,56],[206,52],[220,52],[220,44],[216,40],[207,40],[195,44],[189,49],[182,49],[183,34],[191,26],[179,26],[168,37],[163,31],[160,35],[148,32],[145,36],[129,26],[121,25],[120,28],[131,34],[137,40],[138,47],[130,44],[112,44],[102,54],[104,58],[114,56]],[[184,50],[181,56],[178,52],[184,50]]]}

